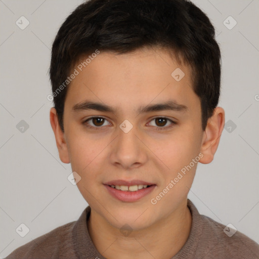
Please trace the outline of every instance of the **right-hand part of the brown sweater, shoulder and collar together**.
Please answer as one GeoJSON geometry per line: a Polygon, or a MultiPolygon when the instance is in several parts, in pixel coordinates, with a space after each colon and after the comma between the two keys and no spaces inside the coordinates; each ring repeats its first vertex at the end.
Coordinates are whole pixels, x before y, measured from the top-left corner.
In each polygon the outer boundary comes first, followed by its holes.
{"type": "Polygon", "coordinates": [[[202,259],[259,259],[259,245],[252,239],[211,218],[201,215],[188,199],[192,227],[183,248],[174,257],[202,259]]]}

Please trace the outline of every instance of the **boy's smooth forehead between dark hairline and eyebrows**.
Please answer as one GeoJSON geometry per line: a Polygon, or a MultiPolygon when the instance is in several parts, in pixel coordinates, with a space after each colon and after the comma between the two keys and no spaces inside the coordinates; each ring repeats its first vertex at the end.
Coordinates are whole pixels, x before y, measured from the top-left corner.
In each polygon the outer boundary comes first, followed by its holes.
{"type": "Polygon", "coordinates": [[[74,67],[78,74],[71,81],[66,98],[73,106],[92,99],[137,111],[139,106],[151,102],[174,99],[187,104],[188,99],[195,97],[189,67],[179,64],[167,50],[100,52],[90,58],[83,57],[74,67]]]}

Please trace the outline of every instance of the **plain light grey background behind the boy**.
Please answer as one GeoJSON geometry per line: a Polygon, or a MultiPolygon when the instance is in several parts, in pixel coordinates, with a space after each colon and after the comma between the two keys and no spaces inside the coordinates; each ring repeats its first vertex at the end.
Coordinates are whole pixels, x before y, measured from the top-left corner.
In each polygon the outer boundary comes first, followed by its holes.
{"type": "MultiPolygon", "coordinates": [[[[193,2],[217,30],[223,60],[220,106],[226,111],[228,124],[214,160],[198,165],[189,198],[200,213],[224,225],[231,223],[259,242],[259,2],[193,2]],[[229,16],[237,21],[231,30],[224,25],[229,16]]],[[[52,103],[47,100],[51,94],[48,69],[53,39],[80,3],[0,0],[2,258],[36,237],[77,220],[87,206],[77,187],[67,180],[70,164],[59,160],[49,122],[52,103]],[[16,25],[21,16],[30,22],[24,30],[16,25]],[[21,120],[29,125],[23,133],[19,131],[21,120]],[[16,232],[21,223],[30,230],[25,237],[16,232]]],[[[234,24],[231,19],[226,22],[227,26],[234,24]]]]}

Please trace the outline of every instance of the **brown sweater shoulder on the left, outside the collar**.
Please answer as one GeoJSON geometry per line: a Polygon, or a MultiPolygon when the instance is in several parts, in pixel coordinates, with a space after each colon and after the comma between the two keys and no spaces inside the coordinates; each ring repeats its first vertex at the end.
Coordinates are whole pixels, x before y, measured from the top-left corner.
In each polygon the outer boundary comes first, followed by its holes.
{"type": "Polygon", "coordinates": [[[74,254],[72,232],[76,222],[60,226],[15,249],[6,259],[71,258],[74,254]]]}

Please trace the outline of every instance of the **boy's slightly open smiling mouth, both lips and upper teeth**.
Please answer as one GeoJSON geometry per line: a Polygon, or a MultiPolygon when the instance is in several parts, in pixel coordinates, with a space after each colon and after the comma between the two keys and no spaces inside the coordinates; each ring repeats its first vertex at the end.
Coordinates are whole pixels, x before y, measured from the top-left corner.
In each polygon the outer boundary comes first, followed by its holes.
{"type": "Polygon", "coordinates": [[[104,186],[108,190],[108,193],[123,202],[134,202],[138,201],[144,196],[150,194],[155,184],[143,182],[139,180],[135,181],[123,181],[115,180],[104,183],[104,186]]]}

